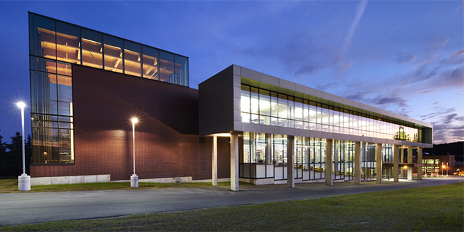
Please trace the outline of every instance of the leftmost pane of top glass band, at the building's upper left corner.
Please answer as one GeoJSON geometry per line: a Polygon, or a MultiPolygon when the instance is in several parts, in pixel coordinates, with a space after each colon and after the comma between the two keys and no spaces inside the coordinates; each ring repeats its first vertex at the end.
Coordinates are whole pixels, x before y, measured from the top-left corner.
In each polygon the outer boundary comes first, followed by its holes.
{"type": "Polygon", "coordinates": [[[55,20],[29,14],[29,53],[56,59],[55,20]]]}

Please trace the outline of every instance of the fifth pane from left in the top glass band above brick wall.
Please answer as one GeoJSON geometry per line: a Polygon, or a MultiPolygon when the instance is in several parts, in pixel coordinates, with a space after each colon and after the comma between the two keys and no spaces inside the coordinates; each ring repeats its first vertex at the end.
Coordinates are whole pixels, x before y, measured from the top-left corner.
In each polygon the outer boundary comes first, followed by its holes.
{"type": "Polygon", "coordinates": [[[124,73],[141,77],[141,45],[124,40],[124,73]]]}

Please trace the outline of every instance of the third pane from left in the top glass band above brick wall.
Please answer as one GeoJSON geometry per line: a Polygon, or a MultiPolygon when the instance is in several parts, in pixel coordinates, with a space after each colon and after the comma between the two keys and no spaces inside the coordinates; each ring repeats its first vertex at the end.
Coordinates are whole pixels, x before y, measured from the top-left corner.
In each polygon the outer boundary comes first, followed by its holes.
{"type": "Polygon", "coordinates": [[[81,29],[82,65],[92,68],[103,68],[103,36],[102,33],[81,29]]]}

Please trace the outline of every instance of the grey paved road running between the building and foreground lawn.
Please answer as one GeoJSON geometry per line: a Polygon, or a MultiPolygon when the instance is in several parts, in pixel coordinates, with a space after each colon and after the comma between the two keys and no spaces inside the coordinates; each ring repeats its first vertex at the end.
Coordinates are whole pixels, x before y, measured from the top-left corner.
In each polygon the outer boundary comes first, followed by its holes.
{"type": "Polygon", "coordinates": [[[401,190],[412,187],[458,183],[458,178],[426,178],[355,185],[353,182],[286,185],[244,185],[240,192],[226,187],[196,187],[152,190],[105,190],[88,192],[29,192],[0,194],[0,226],[93,219],[122,215],[239,206],[273,201],[313,199],[323,196],[401,190]]]}

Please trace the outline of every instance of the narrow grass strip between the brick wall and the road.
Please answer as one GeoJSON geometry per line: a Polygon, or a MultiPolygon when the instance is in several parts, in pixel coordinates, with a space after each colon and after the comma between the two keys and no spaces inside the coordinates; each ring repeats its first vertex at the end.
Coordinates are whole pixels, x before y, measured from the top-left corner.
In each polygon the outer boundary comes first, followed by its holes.
{"type": "MultiPolygon", "coordinates": [[[[217,186],[230,186],[230,182],[219,182],[217,186]]],[[[240,185],[251,185],[242,183],[240,185]]],[[[212,187],[211,183],[142,183],[137,189],[165,189],[174,187],[212,187]]],[[[29,192],[62,192],[62,191],[93,191],[93,190],[134,190],[130,183],[86,183],[74,185],[38,185],[31,186],[29,192]]],[[[0,193],[17,193],[17,179],[0,180],[0,193]]]]}

